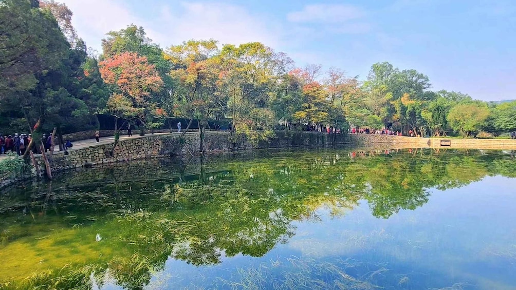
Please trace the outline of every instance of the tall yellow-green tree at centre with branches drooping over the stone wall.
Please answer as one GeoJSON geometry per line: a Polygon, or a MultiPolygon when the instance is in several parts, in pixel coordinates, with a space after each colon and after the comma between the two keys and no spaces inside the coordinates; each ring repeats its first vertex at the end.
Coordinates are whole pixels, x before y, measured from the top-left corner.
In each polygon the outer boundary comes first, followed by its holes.
{"type": "Polygon", "coordinates": [[[267,140],[275,125],[270,108],[271,92],[279,79],[276,54],[260,42],[227,44],[222,47],[220,59],[221,89],[229,97],[233,142],[244,135],[251,142],[267,140]]]}

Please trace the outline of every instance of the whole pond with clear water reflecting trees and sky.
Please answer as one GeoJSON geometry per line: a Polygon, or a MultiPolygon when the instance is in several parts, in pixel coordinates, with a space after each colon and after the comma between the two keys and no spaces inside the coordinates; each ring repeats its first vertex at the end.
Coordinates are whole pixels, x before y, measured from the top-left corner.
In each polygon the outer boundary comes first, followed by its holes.
{"type": "Polygon", "coordinates": [[[514,151],[262,150],[0,195],[0,288],[516,289],[514,151]]]}

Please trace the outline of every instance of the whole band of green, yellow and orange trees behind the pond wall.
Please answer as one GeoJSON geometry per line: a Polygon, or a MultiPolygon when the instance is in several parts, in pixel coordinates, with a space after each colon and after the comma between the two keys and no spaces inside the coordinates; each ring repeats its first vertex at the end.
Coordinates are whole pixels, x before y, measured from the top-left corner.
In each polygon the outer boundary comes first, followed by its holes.
{"type": "Polygon", "coordinates": [[[480,103],[460,92],[432,92],[426,75],[389,62],[373,64],[361,82],[334,67],[326,73],[317,64],[295,68],[286,54],[259,42],[188,40],[163,50],[134,24],[108,32],[102,54],[94,56],[65,4],[38,3],[2,0],[0,113],[25,118],[31,127],[39,122],[41,130],[95,129],[96,115],[104,113],[136,119],[141,128],[167,120],[171,128],[177,117],[189,125],[198,120],[201,133],[224,120],[233,141],[247,135],[257,142],[275,127],[305,125],[421,135],[451,129],[497,135],[516,126],[505,104],[491,105],[487,118],[476,110],[467,117],[475,124],[460,121],[466,117],[457,110],[450,116],[457,105],[480,103]]]}

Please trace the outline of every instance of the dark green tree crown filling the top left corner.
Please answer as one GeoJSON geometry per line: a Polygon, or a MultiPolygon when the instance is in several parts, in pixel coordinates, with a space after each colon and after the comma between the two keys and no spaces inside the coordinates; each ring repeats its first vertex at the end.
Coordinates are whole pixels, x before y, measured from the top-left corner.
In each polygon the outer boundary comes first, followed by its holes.
{"type": "Polygon", "coordinates": [[[26,0],[0,2],[0,98],[34,89],[67,54],[52,16],[26,0]]]}

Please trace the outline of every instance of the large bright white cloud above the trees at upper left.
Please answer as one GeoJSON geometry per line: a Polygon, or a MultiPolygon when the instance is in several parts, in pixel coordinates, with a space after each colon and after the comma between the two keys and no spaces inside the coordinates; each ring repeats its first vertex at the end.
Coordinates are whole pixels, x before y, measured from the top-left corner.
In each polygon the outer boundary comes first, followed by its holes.
{"type": "Polygon", "coordinates": [[[101,39],[111,30],[134,23],[162,47],[189,39],[215,39],[240,44],[260,41],[276,47],[281,35],[278,25],[267,26],[259,16],[235,5],[203,2],[169,4],[153,19],[137,15],[120,0],[62,0],[74,13],[73,25],[88,46],[101,52],[101,39]],[[276,30],[276,31],[275,31],[276,30]]]}

